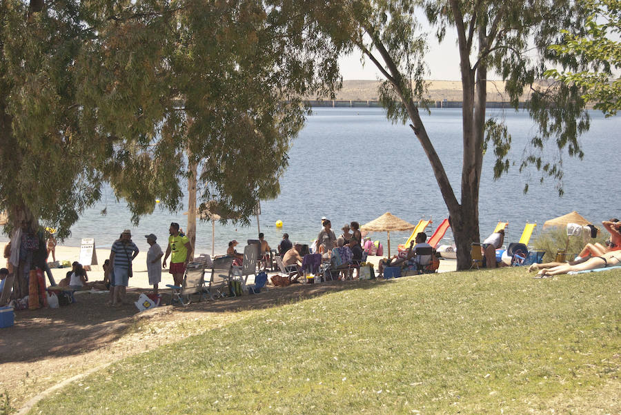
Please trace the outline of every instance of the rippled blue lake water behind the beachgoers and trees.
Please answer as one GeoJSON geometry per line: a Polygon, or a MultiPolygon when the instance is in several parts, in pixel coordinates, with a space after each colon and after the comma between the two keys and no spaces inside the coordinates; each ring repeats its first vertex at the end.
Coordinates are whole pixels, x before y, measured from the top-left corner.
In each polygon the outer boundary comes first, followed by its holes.
{"type": "MultiPolygon", "coordinates": [[[[488,115],[498,115],[500,111],[489,110],[488,115]]],[[[524,112],[509,111],[505,115],[513,136],[512,154],[519,159],[529,136],[535,132],[533,122],[524,112]]],[[[435,109],[423,119],[458,194],[461,110],[435,109]]],[[[520,238],[526,221],[536,221],[541,226],[544,221],[572,210],[593,223],[621,216],[620,198],[613,190],[616,186],[608,183],[615,183],[620,177],[621,163],[616,150],[620,131],[620,117],[604,119],[599,112],[591,113],[591,130],[580,139],[584,159],[564,157],[562,197],[553,181],[540,185],[536,172],[529,176],[512,168],[509,174],[494,181],[493,156],[486,156],[480,192],[481,237],[491,233],[500,220],[509,221],[507,241],[511,242],[520,238]],[[531,185],[529,192],[523,194],[526,181],[531,185]]],[[[289,155],[281,194],[273,201],[261,203],[259,222],[272,247],[282,239],[283,232],[292,241],[310,243],[321,229],[322,216],[331,219],[337,235],[344,223],[358,221],[362,225],[384,212],[414,224],[431,217],[437,225],[447,216],[431,165],[411,128],[386,120],[382,108],[317,108],[295,139],[289,155]],[[282,228],[275,226],[279,220],[284,223],[282,228]]],[[[141,250],[146,250],[145,234],[153,232],[165,240],[171,221],[186,228],[185,211],[182,208],[177,214],[170,214],[156,208],[154,214],[145,216],[134,227],[126,205],[116,203],[108,190],[100,203],[83,213],[65,244],[79,246],[81,238],[93,237],[97,247],[109,247],[122,230],[130,228],[133,240],[141,250]],[[104,207],[106,216],[100,214],[104,207]]],[[[408,235],[409,232],[391,233],[391,245],[403,243],[408,235]]],[[[243,246],[246,239],[256,236],[256,219],[248,227],[216,223],[215,252],[224,253],[230,239],[237,239],[243,246]]],[[[386,245],[385,232],[371,237],[386,245]]],[[[197,223],[197,253],[210,254],[211,244],[211,223],[197,223]]]]}

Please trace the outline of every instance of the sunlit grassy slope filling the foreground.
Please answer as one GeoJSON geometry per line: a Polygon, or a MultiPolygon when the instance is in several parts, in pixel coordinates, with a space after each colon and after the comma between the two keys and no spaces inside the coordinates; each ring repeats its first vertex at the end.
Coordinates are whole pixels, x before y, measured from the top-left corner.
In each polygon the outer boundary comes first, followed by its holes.
{"type": "Polygon", "coordinates": [[[352,282],[128,358],[33,412],[616,413],[620,276],[352,282]]]}

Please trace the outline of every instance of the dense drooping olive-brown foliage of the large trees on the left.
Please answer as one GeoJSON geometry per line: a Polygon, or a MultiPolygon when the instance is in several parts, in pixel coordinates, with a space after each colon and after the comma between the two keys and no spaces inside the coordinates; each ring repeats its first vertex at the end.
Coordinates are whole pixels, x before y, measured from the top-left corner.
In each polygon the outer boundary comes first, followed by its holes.
{"type": "MultiPolygon", "coordinates": [[[[3,1],[0,210],[67,236],[110,183],[134,221],[204,199],[242,220],[279,192],[299,97],[339,85],[338,47],[297,2],[3,1]]],[[[8,228],[7,228],[8,229],[8,228]]]]}

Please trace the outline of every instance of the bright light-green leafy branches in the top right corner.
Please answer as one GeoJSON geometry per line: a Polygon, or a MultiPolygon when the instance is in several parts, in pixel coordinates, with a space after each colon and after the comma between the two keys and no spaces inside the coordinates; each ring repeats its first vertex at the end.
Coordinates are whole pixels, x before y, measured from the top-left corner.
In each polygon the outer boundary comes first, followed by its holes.
{"type": "Polygon", "coordinates": [[[586,34],[561,30],[562,43],[552,45],[551,50],[589,65],[580,72],[559,72],[551,69],[546,76],[559,79],[569,85],[578,85],[586,92],[582,98],[595,103],[607,117],[621,109],[621,1],[582,0],[589,13],[586,34]],[[613,71],[617,77],[614,79],[613,71]]]}

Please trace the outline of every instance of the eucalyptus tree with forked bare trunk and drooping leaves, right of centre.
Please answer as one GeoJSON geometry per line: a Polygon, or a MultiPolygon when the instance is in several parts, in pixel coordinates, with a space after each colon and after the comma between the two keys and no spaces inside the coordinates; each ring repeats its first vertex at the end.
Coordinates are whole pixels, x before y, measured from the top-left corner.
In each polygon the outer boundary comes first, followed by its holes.
{"type": "MultiPolygon", "coordinates": [[[[520,170],[534,166],[541,178],[562,179],[562,158],[582,157],[578,135],[589,126],[580,97],[581,88],[564,83],[538,83],[549,65],[578,68],[581,62],[549,48],[559,43],[562,28],[582,33],[580,3],[566,0],[346,0],[327,3],[334,18],[326,30],[335,43],[362,51],[384,77],[380,101],[389,119],[410,123],[422,145],[451,216],[457,245],[457,267],[470,266],[470,247],[480,240],[479,193],[483,157],[492,152],[493,174],[509,169],[509,134],[502,118],[486,117],[486,80],[500,77],[511,105],[518,108],[530,92],[528,111],[538,125],[520,170]],[[431,28],[431,30],[430,30],[431,28]],[[449,32],[457,39],[463,90],[462,174],[454,189],[420,117],[428,77],[428,36],[444,41],[449,32]],[[544,144],[551,141],[555,157],[544,159],[544,144]]],[[[449,57],[447,57],[449,60],[449,57]]],[[[433,78],[433,74],[431,74],[433,78]]],[[[562,187],[558,184],[562,192],[562,187]]],[[[503,203],[503,201],[498,201],[503,203]]]]}

